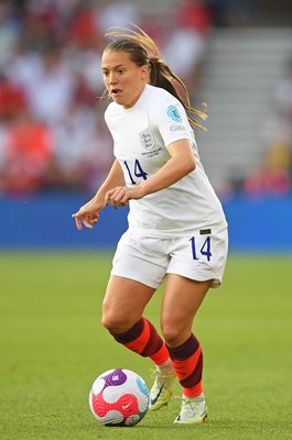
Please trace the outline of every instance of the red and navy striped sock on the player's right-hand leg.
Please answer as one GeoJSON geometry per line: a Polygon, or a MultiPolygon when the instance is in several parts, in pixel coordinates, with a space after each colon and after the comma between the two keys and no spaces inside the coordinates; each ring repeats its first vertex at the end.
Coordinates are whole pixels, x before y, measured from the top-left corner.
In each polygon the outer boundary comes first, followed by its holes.
{"type": "Polygon", "coordinates": [[[203,393],[203,353],[194,334],[180,346],[167,346],[176,376],[187,397],[203,393]]]}

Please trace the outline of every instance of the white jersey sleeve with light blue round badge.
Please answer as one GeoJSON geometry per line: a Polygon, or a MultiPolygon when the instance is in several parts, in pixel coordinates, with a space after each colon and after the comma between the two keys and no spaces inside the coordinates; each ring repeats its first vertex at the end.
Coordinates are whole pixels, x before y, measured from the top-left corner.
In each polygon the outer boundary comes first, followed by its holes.
{"type": "Polygon", "coordinates": [[[173,97],[164,100],[155,111],[155,124],[165,146],[181,139],[194,140],[193,130],[188,123],[185,109],[173,97]]]}

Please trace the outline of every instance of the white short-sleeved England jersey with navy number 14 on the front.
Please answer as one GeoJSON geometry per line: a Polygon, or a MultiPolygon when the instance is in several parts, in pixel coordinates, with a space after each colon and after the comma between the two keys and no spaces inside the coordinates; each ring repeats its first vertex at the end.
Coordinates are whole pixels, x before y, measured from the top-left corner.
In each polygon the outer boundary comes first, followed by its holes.
{"type": "Polygon", "coordinates": [[[196,168],[167,188],[130,200],[129,228],[158,238],[186,237],[210,227],[226,227],[218,200],[202,166],[193,130],[181,102],[166,90],[147,85],[138,102],[125,109],[111,102],[105,113],[113,154],[127,186],[139,185],[169,160],[167,145],[192,142],[196,168]]]}

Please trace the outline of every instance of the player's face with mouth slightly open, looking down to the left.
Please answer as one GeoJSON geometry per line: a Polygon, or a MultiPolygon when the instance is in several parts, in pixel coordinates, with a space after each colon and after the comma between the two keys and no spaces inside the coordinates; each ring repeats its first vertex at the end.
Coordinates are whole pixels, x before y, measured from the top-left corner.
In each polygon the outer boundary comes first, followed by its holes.
{"type": "Polygon", "coordinates": [[[134,106],[144,90],[148,67],[137,66],[128,52],[105,51],[101,68],[112,100],[125,108],[134,106]]]}

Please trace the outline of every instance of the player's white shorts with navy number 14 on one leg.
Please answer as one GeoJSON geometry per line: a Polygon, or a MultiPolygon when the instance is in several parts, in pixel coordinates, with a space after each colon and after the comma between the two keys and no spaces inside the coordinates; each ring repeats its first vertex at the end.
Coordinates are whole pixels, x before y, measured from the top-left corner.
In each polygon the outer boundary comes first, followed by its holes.
{"type": "Polygon", "coordinates": [[[188,237],[158,239],[128,230],[112,260],[111,274],[158,288],[166,274],[204,282],[218,287],[228,251],[227,228],[206,228],[188,237]]]}

